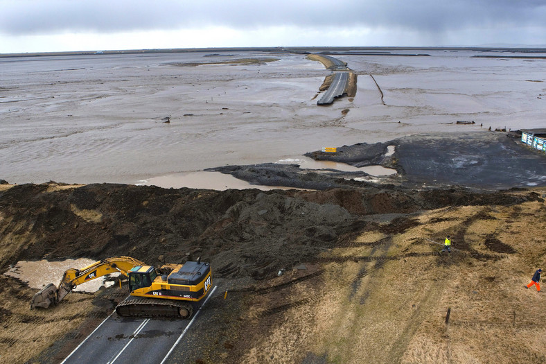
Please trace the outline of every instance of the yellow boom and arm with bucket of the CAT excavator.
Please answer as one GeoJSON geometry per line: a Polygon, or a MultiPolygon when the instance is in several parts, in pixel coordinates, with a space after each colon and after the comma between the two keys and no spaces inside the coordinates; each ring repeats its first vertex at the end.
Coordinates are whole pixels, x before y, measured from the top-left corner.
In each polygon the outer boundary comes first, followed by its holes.
{"type": "Polygon", "coordinates": [[[96,261],[85,268],[69,268],[64,272],[59,286],[55,287],[53,283],[50,283],[34,295],[32,302],[30,302],[30,309],[48,308],[52,304],[56,305],[82,283],[116,272],[127,276],[127,272],[131,268],[144,265],[143,262],[131,257],[113,257],[96,261]]]}

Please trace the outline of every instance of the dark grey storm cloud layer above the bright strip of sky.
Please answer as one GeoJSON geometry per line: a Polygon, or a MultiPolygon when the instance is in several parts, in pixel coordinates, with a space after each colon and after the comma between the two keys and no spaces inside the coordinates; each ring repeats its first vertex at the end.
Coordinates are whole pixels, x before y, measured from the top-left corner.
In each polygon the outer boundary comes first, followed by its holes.
{"type": "Polygon", "coordinates": [[[487,27],[504,31],[507,26],[543,26],[546,18],[546,6],[538,0],[0,0],[0,4],[0,33],[10,35],[200,26],[368,26],[421,33],[487,27]]]}

